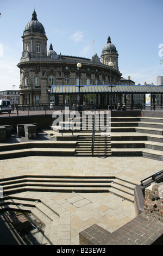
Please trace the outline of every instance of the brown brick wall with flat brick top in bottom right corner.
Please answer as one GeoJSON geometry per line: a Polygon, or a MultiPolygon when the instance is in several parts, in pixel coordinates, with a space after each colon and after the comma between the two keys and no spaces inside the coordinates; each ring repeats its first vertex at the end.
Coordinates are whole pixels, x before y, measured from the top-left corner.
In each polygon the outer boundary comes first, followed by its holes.
{"type": "Polygon", "coordinates": [[[163,182],[145,190],[142,213],[114,232],[93,224],[79,233],[80,245],[162,245],[163,182]]]}

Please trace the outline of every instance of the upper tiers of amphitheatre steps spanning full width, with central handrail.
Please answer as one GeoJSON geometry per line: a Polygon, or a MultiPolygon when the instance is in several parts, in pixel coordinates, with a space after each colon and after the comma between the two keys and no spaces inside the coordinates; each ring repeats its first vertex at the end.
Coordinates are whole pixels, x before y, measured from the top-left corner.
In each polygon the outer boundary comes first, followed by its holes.
{"type": "MultiPolygon", "coordinates": [[[[112,117],[106,115],[96,120],[94,156],[145,156],[163,160],[163,118],[112,117]],[[101,119],[98,119],[101,118],[101,119]],[[108,124],[107,124],[108,123],[108,124]],[[98,126],[102,130],[98,130],[98,126]],[[103,135],[105,129],[109,135],[103,135]],[[109,131],[109,132],[108,132],[109,131]]],[[[92,117],[93,120],[93,117],[92,117]]],[[[92,130],[84,117],[86,130],[65,133],[42,130],[51,140],[1,143],[0,159],[23,156],[92,156],[92,130]]],[[[66,127],[67,128],[67,127],[66,127]]],[[[52,127],[51,127],[52,129],[52,127]]]]}

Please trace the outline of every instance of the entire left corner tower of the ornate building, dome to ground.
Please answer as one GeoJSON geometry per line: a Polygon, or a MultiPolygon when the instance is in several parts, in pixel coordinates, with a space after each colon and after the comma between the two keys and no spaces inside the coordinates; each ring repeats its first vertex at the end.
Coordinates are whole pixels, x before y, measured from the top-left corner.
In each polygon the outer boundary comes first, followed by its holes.
{"type": "Polygon", "coordinates": [[[20,103],[46,103],[47,81],[42,77],[42,63],[47,60],[47,36],[43,25],[37,20],[36,12],[32,14],[23,31],[23,52],[20,68],[20,103]]]}

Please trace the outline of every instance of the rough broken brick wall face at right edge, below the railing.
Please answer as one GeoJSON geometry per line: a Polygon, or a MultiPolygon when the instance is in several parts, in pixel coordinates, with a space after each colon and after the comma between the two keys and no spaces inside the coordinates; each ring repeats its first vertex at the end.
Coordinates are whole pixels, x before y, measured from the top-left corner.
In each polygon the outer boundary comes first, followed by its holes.
{"type": "Polygon", "coordinates": [[[163,222],[163,182],[154,182],[146,188],[143,212],[163,222]]]}

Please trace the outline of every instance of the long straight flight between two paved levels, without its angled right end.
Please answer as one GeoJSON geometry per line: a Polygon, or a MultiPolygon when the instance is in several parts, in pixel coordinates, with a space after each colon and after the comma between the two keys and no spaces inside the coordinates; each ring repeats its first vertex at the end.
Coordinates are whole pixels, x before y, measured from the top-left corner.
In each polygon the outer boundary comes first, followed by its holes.
{"type": "Polygon", "coordinates": [[[22,191],[42,192],[104,192],[110,187],[110,177],[97,178],[68,178],[65,176],[47,177],[43,180],[36,177],[12,179],[12,181],[0,181],[4,194],[18,193],[22,191]]]}

